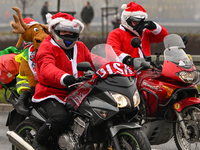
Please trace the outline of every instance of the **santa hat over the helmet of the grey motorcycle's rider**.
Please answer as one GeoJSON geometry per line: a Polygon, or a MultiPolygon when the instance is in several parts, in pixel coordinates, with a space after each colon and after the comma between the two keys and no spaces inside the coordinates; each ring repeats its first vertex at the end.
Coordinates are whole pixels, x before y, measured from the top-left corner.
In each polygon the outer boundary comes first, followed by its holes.
{"type": "Polygon", "coordinates": [[[84,25],[77,20],[76,18],[74,18],[73,16],[67,14],[67,13],[57,13],[55,15],[51,15],[50,13],[46,14],[46,18],[47,18],[47,23],[49,24],[49,32],[52,31],[52,27],[58,23],[62,23],[62,24],[66,24],[69,26],[76,26],[77,23],[80,25],[80,33],[83,31],[84,29],[84,25]]]}

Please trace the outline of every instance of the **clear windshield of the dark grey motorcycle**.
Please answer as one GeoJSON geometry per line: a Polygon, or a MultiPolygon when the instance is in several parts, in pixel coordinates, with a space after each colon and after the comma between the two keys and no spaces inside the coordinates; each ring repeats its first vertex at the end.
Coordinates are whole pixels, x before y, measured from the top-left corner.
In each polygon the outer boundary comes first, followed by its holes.
{"type": "Polygon", "coordinates": [[[91,58],[96,70],[109,62],[121,62],[113,48],[108,44],[98,44],[91,50],[91,58]]]}

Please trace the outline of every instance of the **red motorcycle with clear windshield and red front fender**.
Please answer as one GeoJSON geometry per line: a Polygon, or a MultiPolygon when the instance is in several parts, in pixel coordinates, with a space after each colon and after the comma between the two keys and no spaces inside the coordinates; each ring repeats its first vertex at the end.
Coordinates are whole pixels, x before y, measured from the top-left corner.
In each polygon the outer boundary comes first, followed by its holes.
{"type": "MultiPolygon", "coordinates": [[[[141,49],[139,38],[131,44],[141,49]]],[[[174,136],[179,150],[200,149],[200,94],[196,86],[200,73],[184,52],[179,35],[166,36],[164,45],[163,64],[159,63],[161,53],[157,54],[156,61],[150,61],[152,67],[138,73],[140,124],[151,145],[166,143],[174,136]]]]}

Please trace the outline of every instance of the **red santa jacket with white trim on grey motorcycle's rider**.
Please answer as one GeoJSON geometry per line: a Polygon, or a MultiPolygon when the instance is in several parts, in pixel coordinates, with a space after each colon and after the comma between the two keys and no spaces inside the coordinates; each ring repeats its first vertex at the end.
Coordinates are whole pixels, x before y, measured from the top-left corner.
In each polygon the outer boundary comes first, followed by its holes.
{"type": "Polygon", "coordinates": [[[76,66],[80,62],[88,61],[92,64],[88,48],[80,41],[74,45],[73,59],[69,59],[64,50],[52,39],[45,38],[36,55],[36,72],[38,84],[36,85],[33,102],[41,102],[48,98],[54,98],[64,103],[68,95],[63,79],[67,75],[80,77],[76,66]]]}

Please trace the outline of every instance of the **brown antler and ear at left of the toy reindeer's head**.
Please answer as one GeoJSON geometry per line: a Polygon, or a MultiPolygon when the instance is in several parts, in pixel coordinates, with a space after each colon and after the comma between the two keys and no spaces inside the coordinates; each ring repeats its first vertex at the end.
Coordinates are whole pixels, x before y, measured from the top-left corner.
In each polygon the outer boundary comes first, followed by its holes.
{"type": "MultiPolygon", "coordinates": [[[[14,28],[13,33],[15,34],[23,34],[25,33],[26,29],[29,27],[29,25],[27,25],[26,23],[24,23],[23,19],[22,19],[22,15],[21,15],[21,11],[18,7],[13,7],[12,8],[14,11],[16,11],[16,14],[13,14],[13,18],[15,20],[15,23],[12,23],[12,27],[14,28]]],[[[23,38],[22,35],[20,37],[20,39],[18,40],[16,47],[19,47],[20,44],[22,43],[23,38]]]]}

